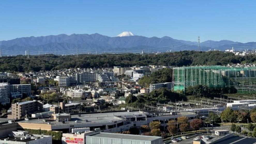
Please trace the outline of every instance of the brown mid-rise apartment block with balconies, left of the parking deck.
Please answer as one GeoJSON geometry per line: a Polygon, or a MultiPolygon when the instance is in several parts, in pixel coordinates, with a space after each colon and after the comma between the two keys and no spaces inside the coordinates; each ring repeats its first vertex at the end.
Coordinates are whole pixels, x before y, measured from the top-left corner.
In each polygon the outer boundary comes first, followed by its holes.
{"type": "Polygon", "coordinates": [[[21,119],[25,116],[31,117],[32,113],[40,112],[43,104],[39,101],[26,101],[12,104],[12,114],[8,115],[8,119],[21,119]]]}

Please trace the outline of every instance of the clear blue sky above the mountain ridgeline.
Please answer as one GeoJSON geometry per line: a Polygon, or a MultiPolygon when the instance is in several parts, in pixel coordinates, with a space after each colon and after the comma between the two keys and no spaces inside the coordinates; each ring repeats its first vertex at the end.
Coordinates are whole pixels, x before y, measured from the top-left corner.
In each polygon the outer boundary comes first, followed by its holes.
{"type": "Polygon", "coordinates": [[[197,41],[256,41],[256,1],[1,1],[0,40],[123,31],[197,41]]]}

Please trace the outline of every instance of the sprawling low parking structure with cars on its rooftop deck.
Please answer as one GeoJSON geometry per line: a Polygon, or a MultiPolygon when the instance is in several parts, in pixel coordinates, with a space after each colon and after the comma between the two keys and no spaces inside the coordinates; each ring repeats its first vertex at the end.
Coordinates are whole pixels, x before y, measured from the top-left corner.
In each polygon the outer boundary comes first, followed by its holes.
{"type": "Polygon", "coordinates": [[[71,115],[71,120],[65,123],[51,122],[47,124],[46,120],[30,119],[18,122],[22,128],[36,129],[41,127],[42,130],[54,130],[71,132],[72,128],[89,127],[90,130],[100,128],[102,132],[121,132],[127,131],[131,127],[140,127],[148,125],[152,121],[159,121],[163,129],[166,129],[168,120],[177,120],[180,116],[186,116],[189,121],[196,116],[194,112],[178,111],[178,112],[146,112],[146,111],[122,111],[108,113],[91,113],[71,115]],[[77,121],[76,121],[77,120],[77,121]]]}

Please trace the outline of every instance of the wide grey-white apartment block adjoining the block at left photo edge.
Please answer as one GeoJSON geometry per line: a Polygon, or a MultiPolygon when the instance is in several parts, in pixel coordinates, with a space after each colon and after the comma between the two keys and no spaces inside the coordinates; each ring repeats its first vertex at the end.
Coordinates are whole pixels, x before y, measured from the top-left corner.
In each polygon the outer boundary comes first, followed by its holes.
{"type": "Polygon", "coordinates": [[[24,93],[27,96],[31,96],[31,84],[9,85],[10,93],[24,93]]]}

